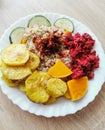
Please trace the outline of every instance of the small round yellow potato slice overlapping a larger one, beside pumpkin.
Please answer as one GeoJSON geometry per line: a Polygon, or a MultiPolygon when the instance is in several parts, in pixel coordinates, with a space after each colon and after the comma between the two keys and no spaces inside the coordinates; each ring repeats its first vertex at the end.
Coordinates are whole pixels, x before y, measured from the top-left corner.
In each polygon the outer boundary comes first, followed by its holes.
{"type": "Polygon", "coordinates": [[[47,82],[47,92],[52,97],[60,97],[67,91],[67,85],[64,81],[58,78],[51,78],[47,82]]]}

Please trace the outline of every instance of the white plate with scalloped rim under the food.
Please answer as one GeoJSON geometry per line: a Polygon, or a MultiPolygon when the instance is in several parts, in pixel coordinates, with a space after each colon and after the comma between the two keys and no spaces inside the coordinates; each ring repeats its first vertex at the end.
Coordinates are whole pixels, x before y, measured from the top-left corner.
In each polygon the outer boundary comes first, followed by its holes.
{"type": "MultiPolygon", "coordinates": [[[[38,14],[32,14],[29,16],[26,16],[24,18],[21,18],[17,22],[15,22],[13,25],[11,25],[3,34],[0,40],[0,50],[7,45],[10,44],[9,42],[9,34],[10,32],[18,26],[27,26],[28,20],[32,18],[34,15],[38,14]]],[[[93,39],[96,41],[95,50],[97,51],[97,54],[100,57],[100,67],[95,70],[95,77],[93,80],[89,81],[89,88],[87,94],[79,101],[72,102],[70,100],[60,98],[51,105],[42,105],[42,104],[36,104],[31,102],[25,94],[20,92],[16,88],[10,88],[8,87],[2,79],[0,79],[0,86],[4,94],[8,96],[8,98],[16,105],[18,105],[22,110],[29,111],[30,113],[36,114],[36,115],[42,115],[45,117],[58,117],[58,116],[65,116],[67,114],[73,114],[76,113],[78,110],[81,110],[83,107],[86,107],[91,101],[93,101],[96,97],[96,95],[101,90],[102,84],[104,83],[105,79],[105,57],[104,57],[104,51],[101,47],[101,43],[96,38],[96,36],[92,33],[92,31],[87,28],[82,23],[78,22],[76,19],[55,14],[55,13],[41,13],[40,15],[44,15],[47,17],[50,22],[53,24],[57,18],[60,17],[67,17],[70,18],[74,23],[75,32],[82,33],[89,33],[93,39]]]]}

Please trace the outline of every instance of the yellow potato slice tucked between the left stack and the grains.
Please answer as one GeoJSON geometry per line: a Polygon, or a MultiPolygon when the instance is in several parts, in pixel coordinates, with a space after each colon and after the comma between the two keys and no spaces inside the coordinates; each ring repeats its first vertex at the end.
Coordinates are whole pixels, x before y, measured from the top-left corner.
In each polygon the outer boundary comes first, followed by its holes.
{"type": "Polygon", "coordinates": [[[38,67],[39,63],[40,63],[39,57],[36,54],[30,52],[27,64],[31,68],[31,70],[34,71],[38,67]]]}

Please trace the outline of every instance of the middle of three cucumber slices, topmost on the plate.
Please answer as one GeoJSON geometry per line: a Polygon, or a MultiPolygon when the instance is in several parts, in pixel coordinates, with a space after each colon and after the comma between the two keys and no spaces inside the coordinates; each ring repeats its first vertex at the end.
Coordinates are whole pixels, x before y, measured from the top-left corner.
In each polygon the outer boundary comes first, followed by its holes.
{"type": "Polygon", "coordinates": [[[42,15],[36,15],[32,17],[28,22],[28,27],[31,27],[33,25],[38,25],[38,26],[44,25],[49,27],[51,26],[51,23],[46,17],[42,15]]]}

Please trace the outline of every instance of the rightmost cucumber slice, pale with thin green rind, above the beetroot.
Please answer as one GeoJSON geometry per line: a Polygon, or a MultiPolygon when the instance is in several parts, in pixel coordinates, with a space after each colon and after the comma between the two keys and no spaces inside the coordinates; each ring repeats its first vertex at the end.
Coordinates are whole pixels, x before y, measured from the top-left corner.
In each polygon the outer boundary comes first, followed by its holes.
{"type": "Polygon", "coordinates": [[[59,18],[55,21],[54,26],[57,28],[62,28],[65,31],[74,31],[74,25],[72,21],[68,18],[59,18]]]}

